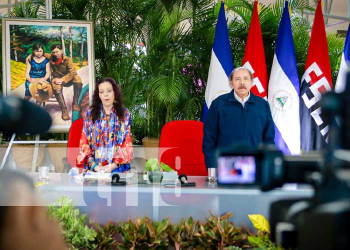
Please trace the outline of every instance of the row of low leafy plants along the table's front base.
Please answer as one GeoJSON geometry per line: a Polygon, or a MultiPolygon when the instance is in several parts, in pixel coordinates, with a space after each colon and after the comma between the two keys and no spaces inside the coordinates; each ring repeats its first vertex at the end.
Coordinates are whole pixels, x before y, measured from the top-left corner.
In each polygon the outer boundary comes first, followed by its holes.
{"type": "Polygon", "coordinates": [[[102,227],[86,222],[87,215],[79,214],[71,199],[64,196],[48,206],[48,214],[59,221],[70,249],[283,249],[269,239],[268,221],[260,214],[248,215],[257,232],[235,226],[228,220],[231,212],[220,216],[210,212],[204,222],[188,217],[171,223],[169,218],[152,221],[144,216],[102,227]],[[121,236],[118,242],[117,233],[121,236]]]}

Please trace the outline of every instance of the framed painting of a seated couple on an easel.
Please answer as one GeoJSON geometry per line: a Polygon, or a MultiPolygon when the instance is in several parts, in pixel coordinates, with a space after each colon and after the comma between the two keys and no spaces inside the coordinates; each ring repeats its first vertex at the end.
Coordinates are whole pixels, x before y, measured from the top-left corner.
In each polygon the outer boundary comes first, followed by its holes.
{"type": "Polygon", "coordinates": [[[3,94],[46,109],[50,131],[68,131],[92,101],[93,51],[90,21],[3,17],[3,94]]]}

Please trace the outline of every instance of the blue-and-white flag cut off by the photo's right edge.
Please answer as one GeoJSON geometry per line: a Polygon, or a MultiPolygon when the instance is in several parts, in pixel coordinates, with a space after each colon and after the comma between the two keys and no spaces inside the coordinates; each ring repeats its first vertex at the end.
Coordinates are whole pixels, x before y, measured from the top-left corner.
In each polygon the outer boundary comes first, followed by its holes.
{"type": "Polygon", "coordinates": [[[344,49],[342,50],[341,62],[339,66],[338,77],[336,78],[334,91],[337,93],[343,92],[345,90],[346,85],[346,73],[349,70],[350,66],[350,41],[349,41],[349,26],[347,27],[347,33],[345,38],[344,49]]]}

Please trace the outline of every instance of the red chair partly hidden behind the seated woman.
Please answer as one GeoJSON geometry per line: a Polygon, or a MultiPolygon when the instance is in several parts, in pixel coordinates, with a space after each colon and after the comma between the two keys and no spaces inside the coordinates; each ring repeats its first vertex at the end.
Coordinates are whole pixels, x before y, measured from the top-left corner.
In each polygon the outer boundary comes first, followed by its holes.
{"type": "Polygon", "coordinates": [[[77,166],[82,170],[83,165],[76,164],[76,157],[79,154],[79,142],[82,132],[82,121],[83,119],[76,119],[71,123],[68,133],[68,143],[67,143],[67,156],[62,159],[64,172],[68,172],[72,166],[77,166]]]}

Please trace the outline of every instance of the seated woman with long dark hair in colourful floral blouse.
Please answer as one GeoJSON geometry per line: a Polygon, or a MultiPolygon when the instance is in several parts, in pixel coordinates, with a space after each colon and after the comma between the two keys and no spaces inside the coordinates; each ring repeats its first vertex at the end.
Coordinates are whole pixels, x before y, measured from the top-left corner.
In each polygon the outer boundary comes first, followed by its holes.
{"type": "Polygon", "coordinates": [[[77,163],[85,171],[124,172],[132,157],[129,112],[116,82],[103,78],[96,82],[92,106],[86,109],[77,163]]]}

